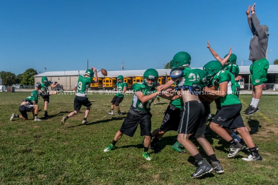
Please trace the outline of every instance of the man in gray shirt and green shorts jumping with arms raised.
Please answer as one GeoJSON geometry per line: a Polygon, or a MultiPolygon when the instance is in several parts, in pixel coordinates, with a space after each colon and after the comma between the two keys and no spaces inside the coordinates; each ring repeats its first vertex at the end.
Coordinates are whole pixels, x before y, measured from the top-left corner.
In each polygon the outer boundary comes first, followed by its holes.
{"type": "Polygon", "coordinates": [[[246,11],[248,25],[253,34],[250,40],[250,55],[249,60],[252,60],[250,66],[250,80],[252,83],[252,101],[249,107],[243,111],[245,115],[252,115],[259,111],[258,103],[263,94],[262,84],[267,81],[266,75],[269,68],[269,62],[266,60],[266,48],[268,44],[268,27],[266,25],[261,25],[259,19],[255,13],[255,5],[253,4],[250,15],[250,8],[246,11]]]}

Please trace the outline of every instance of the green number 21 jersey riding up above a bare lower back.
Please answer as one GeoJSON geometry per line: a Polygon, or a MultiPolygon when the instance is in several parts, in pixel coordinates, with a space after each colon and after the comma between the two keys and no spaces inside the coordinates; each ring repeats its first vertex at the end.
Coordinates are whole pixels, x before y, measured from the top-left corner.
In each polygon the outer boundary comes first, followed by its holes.
{"type": "MultiPolygon", "coordinates": [[[[175,72],[175,70],[179,71],[180,67],[175,68],[171,71],[175,72]]],[[[178,76],[179,79],[176,81],[177,86],[193,86],[197,85],[200,86],[200,76],[198,71],[195,71],[194,69],[191,69],[190,67],[185,67],[183,72],[181,73],[181,76],[178,76]]],[[[172,76],[173,78],[175,76],[172,76]]]]}

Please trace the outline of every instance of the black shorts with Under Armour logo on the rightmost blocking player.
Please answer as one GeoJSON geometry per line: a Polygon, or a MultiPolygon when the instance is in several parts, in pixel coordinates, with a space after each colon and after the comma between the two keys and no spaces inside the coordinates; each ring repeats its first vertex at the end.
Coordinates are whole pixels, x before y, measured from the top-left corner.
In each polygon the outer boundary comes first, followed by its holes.
{"type": "Polygon", "coordinates": [[[241,108],[241,104],[222,106],[212,122],[228,129],[245,127],[240,115],[241,108]]]}

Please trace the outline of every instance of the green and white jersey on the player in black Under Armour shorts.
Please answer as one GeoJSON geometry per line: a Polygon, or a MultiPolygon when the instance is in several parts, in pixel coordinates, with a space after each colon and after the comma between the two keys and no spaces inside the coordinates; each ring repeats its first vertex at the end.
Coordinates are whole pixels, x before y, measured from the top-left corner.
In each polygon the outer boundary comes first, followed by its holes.
{"type": "MultiPolygon", "coordinates": [[[[240,104],[240,100],[238,99],[236,95],[236,83],[235,78],[232,73],[229,71],[221,70],[214,76],[214,85],[219,85],[223,82],[227,82],[228,88],[227,88],[227,94],[224,97],[219,96],[219,100],[221,103],[221,106],[224,105],[232,105],[232,104],[240,104]]],[[[219,87],[218,87],[219,89],[219,87]]]]}

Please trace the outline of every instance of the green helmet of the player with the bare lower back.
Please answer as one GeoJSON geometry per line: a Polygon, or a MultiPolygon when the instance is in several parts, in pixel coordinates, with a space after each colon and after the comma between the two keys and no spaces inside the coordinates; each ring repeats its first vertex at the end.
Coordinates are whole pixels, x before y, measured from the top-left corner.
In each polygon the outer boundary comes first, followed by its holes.
{"type": "Polygon", "coordinates": [[[170,62],[171,69],[183,66],[183,67],[189,67],[191,62],[191,56],[184,51],[181,51],[174,55],[173,60],[170,62]]]}

